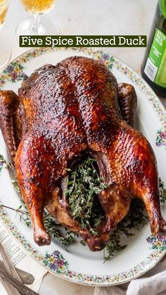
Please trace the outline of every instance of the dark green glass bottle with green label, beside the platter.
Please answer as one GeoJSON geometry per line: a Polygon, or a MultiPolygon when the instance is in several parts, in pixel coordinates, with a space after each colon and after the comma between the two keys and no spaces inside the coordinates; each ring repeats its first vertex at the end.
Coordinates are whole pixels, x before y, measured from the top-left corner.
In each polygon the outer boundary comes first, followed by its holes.
{"type": "Polygon", "coordinates": [[[156,94],[166,97],[166,0],[158,1],[141,75],[156,94]]]}

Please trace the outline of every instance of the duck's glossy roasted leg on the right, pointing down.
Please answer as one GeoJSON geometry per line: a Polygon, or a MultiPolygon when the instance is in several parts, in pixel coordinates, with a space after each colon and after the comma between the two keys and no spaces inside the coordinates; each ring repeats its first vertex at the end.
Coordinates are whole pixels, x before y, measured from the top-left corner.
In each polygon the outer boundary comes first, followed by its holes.
{"type": "Polygon", "coordinates": [[[110,149],[108,156],[112,179],[122,192],[145,203],[152,233],[165,232],[166,222],[160,211],[158,170],[151,145],[125,122],[121,123],[117,137],[117,144],[110,149]]]}

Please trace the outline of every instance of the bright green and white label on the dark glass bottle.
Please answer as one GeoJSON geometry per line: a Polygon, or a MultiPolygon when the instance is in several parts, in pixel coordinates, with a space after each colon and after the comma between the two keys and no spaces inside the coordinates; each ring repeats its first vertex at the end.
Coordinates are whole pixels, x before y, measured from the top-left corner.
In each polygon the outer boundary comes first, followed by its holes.
{"type": "Polygon", "coordinates": [[[166,35],[155,29],[144,73],[155,84],[166,88],[166,35]]]}

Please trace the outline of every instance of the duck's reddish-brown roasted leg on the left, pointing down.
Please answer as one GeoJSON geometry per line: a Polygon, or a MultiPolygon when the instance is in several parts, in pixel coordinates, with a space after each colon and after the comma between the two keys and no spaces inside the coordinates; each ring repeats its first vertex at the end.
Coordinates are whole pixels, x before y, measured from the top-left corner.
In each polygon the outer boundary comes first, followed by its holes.
{"type": "Polygon", "coordinates": [[[48,142],[34,135],[24,137],[15,156],[15,171],[21,195],[30,211],[34,227],[34,241],[39,245],[50,244],[44,227],[44,205],[49,199],[53,154],[48,142]]]}

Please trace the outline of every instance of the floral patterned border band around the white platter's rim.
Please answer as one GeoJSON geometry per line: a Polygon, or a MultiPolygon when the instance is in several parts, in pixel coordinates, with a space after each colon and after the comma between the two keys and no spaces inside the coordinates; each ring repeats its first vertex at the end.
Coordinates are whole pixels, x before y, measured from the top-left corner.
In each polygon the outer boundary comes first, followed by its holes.
{"type": "MultiPolygon", "coordinates": [[[[27,63],[27,61],[31,61],[33,58],[41,56],[41,54],[60,50],[64,50],[64,48],[39,48],[25,52],[25,54],[22,54],[21,56],[16,58],[15,61],[10,63],[4,69],[3,73],[0,74],[0,89],[4,88],[6,82],[15,83],[23,80],[26,72],[25,63],[27,63]]],[[[81,52],[82,54],[86,54],[91,58],[96,58],[104,65],[107,65],[110,70],[112,68],[115,68],[122,74],[125,74],[133,84],[136,84],[141,92],[145,94],[146,99],[148,99],[149,103],[151,103],[155,113],[157,113],[158,118],[160,119],[162,127],[160,128],[160,130],[158,130],[157,133],[156,146],[166,146],[166,113],[151,88],[148,87],[148,84],[146,84],[146,82],[144,82],[141,77],[139,77],[139,75],[134,73],[132,69],[128,68],[127,65],[119,61],[117,58],[110,56],[103,51],[96,51],[89,48],[65,48],[65,50],[75,51],[76,54],[77,52],[81,52]]],[[[0,163],[0,168],[3,164],[4,163],[0,163]]],[[[133,280],[134,278],[143,275],[146,270],[151,269],[153,265],[155,265],[156,261],[159,261],[160,258],[163,257],[166,250],[166,240],[164,240],[163,237],[159,235],[157,237],[151,236],[147,239],[148,243],[152,245],[151,254],[134,268],[126,270],[125,272],[115,273],[114,275],[87,275],[70,270],[70,265],[68,261],[63,258],[63,255],[59,251],[53,251],[52,253],[46,252],[44,255],[40,251],[35,249],[34,246],[32,246],[32,244],[30,244],[30,242],[25,239],[23,234],[14,225],[14,223],[9,218],[7,212],[1,206],[0,218],[1,220],[3,220],[4,225],[6,225],[8,230],[15,237],[15,239],[17,239],[18,242],[22,244],[24,249],[28,253],[30,253],[32,257],[34,257],[37,261],[44,265],[48,270],[51,270],[51,272],[60,275],[60,277],[71,280],[72,282],[99,285],[110,285],[128,282],[129,280],[133,280]]]]}

